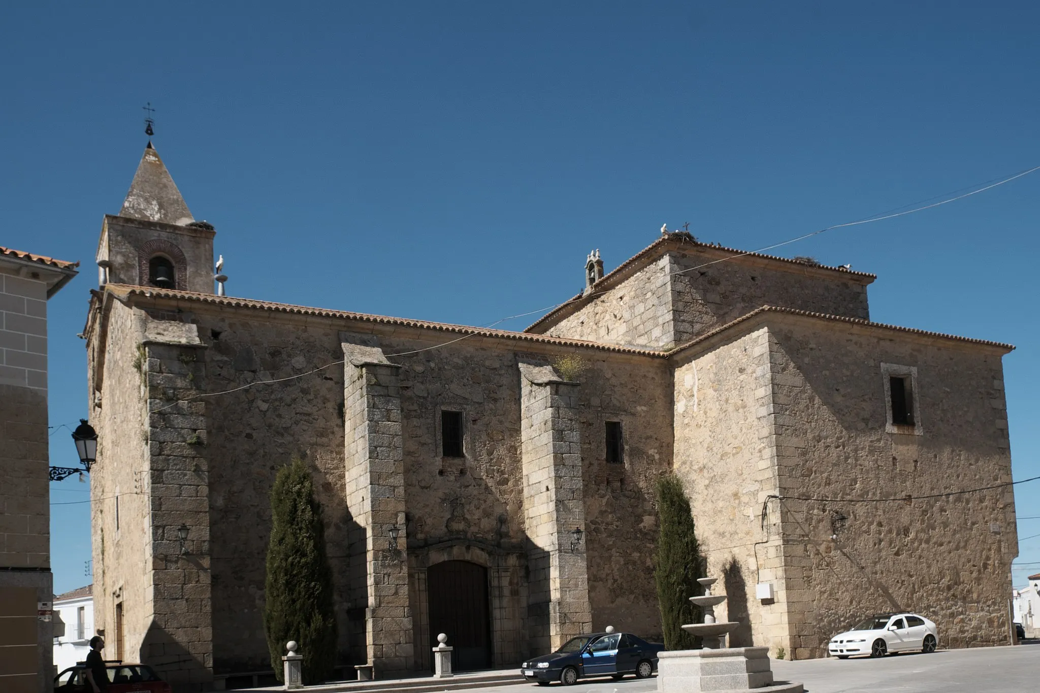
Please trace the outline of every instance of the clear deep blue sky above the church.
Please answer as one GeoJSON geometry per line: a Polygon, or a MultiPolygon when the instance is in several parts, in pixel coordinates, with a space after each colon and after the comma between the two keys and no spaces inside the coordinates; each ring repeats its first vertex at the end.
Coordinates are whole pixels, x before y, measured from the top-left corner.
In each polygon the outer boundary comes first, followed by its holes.
{"type": "MultiPolygon", "coordinates": [[[[662,222],[757,248],[1040,165],[1036,3],[8,3],[0,244],[84,263],[51,301],[51,423],[86,411],[104,213],[155,144],[228,291],[487,324],[569,298],[662,222]]],[[[1040,475],[1040,172],[778,251],[875,272],[874,319],[1011,342],[1040,475]]],[[[530,318],[502,326],[522,328],[530,318]]],[[[55,429],[52,463],[71,465],[55,429]]],[[[87,498],[52,484],[52,502],[87,498]]],[[[1040,482],[1017,487],[1040,534],[1040,482]]],[[[55,588],[88,505],[53,506],[55,588]]],[[[1021,542],[1016,584],[1040,571],[1021,542]]]]}

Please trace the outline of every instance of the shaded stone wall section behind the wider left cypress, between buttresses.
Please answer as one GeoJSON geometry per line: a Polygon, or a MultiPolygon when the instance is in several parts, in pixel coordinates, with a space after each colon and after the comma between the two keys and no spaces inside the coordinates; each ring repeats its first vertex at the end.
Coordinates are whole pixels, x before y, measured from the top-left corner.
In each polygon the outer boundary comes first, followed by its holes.
{"type": "MultiPolygon", "coordinates": [[[[212,391],[285,378],[343,358],[328,323],[274,323],[256,314],[182,316],[199,322],[212,391]]],[[[270,488],[292,455],[310,467],[323,509],[333,568],[340,660],[350,662],[343,476],[343,368],[246,388],[209,400],[210,545],[213,660],[216,673],[271,667],[263,630],[264,561],[270,532],[270,488]]],[[[363,624],[363,616],[360,618],[363,624]]]]}

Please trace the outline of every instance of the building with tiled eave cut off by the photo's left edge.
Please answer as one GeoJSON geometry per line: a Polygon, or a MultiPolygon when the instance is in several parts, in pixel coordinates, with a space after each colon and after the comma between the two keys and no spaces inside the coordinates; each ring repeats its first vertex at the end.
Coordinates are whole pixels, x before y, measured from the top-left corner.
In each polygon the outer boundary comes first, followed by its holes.
{"type": "Polygon", "coordinates": [[[79,263],[0,246],[0,691],[53,689],[47,300],[79,263]]]}

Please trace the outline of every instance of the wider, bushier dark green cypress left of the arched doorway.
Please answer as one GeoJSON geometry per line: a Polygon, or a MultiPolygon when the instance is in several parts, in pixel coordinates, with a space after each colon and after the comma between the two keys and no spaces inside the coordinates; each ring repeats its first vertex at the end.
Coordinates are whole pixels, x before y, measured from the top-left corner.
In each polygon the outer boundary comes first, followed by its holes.
{"type": "Polygon", "coordinates": [[[285,643],[295,640],[304,657],[304,683],[328,681],[336,664],[332,568],[321,506],[298,456],[278,471],[270,510],[264,630],[271,666],[281,681],[285,643]]]}

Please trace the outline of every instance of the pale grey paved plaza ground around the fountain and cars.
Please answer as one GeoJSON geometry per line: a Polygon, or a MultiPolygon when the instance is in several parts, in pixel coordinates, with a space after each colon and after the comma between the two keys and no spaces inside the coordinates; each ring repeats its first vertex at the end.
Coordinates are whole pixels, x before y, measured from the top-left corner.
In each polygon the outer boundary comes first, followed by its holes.
{"type": "MultiPolygon", "coordinates": [[[[931,655],[890,655],[884,659],[806,660],[773,663],[777,681],[800,681],[806,693],[946,693],[999,691],[1040,693],[1040,641],[1015,647],[939,650],[931,655]]],[[[471,689],[472,693],[518,693],[528,686],[471,689]]],[[[558,684],[536,690],[565,690],[558,684]]],[[[656,677],[636,681],[591,679],[566,688],[568,693],[647,693],[656,677]]]]}

